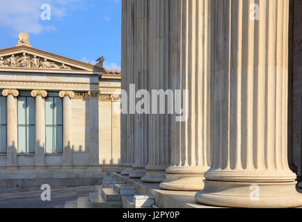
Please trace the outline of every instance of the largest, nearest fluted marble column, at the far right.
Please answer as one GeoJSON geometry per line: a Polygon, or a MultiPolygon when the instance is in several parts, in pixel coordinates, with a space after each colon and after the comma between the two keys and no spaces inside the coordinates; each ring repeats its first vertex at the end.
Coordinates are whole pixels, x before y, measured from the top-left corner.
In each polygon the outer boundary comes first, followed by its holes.
{"type": "Polygon", "coordinates": [[[213,155],[199,203],[302,205],[287,162],[288,12],[283,0],[212,1],[213,155]]]}

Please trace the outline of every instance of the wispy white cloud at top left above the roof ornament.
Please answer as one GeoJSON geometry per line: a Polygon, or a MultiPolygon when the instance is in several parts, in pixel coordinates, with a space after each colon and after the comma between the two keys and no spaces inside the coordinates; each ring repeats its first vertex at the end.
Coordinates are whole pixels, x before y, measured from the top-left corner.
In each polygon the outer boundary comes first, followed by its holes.
{"type": "Polygon", "coordinates": [[[40,19],[41,6],[48,3],[51,6],[51,19],[61,19],[67,15],[67,10],[74,7],[74,3],[82,0],[1,0],[0,26],[13,28],[14,31],[27,33],[41,33],[55,31],[56,27],[47,25],[40,19]]]}

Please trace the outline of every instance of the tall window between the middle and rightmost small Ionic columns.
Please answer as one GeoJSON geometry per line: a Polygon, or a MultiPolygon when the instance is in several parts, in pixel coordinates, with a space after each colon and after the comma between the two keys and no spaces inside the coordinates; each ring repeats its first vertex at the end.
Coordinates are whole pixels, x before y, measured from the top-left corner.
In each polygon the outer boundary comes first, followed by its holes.
{"type": "Polygon", "coordinates": [[[49,92],[45,100],[46,153],[63,153],[63,110],[58,93],[49,92]]]}

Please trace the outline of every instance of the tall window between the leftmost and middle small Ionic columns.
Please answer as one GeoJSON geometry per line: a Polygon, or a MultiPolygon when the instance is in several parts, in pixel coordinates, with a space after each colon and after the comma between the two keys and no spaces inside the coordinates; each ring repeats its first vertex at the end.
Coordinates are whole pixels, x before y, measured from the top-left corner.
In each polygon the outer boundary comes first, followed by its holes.
{"type": "Polygon", "coordinates": [[[35,153],[35,98],[31,92],[18,97],[18,153],[35,153]]]}

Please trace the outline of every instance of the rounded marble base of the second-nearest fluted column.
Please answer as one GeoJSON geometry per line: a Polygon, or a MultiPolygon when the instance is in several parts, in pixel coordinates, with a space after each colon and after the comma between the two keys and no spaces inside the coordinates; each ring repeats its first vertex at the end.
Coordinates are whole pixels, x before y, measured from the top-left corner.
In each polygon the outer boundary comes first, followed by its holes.
{"type": "Polygon", "coordinates": [[[202,175],[166,173],[166,180],[159,185],[161,189],[200,191],[204,187],[202,175]]]}

